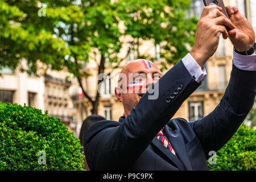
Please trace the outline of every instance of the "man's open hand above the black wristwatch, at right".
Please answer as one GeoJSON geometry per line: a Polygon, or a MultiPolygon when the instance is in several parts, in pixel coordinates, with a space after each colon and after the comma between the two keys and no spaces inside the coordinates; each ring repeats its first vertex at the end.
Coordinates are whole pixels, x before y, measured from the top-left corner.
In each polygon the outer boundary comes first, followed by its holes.
{"type": "Polygon", "coordinates": [[[229,31],[229,39],[233,43],[234,47],[239,52],[247,51],[253,47],[255,43],[255,32],[251,27],[248,20],[243,16],[236,6],[226,6],[229,19],[236,26],[233,30],[229,31]]]}

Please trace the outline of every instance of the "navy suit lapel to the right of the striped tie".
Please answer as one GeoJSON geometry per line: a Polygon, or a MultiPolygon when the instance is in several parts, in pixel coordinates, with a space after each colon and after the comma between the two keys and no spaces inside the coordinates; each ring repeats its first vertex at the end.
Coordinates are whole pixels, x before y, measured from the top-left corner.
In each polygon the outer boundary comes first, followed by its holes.
{"type": "Polygon", "coordinates": [[[187,150],[185,147],[183,137],[177,131],[177,127],[174,122],[172,122],[172,127],[174,127],[175,130],[172,130],[171,127],[168,127],[167,125],[164,126],[164,135],[171,143],[172,148],[174,148],[174,151],[178,158],[180,159],[180,161],[184,164],[185,169],[188,171],[192,170],[191,162],[187,155],[187,150]]]}

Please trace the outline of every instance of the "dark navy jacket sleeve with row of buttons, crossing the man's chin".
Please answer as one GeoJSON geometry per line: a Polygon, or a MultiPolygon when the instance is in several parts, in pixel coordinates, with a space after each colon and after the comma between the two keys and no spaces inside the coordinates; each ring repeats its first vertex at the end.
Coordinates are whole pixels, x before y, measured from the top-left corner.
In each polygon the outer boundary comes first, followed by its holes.
{"type": "Polygon", "coordinates": [[[97,132],[94,124],[88,131],[94,137],[85,138],[90,169],[118,170],[131,166],[199,85],[179,61],[143,95],[121,124],[97,132]]]}

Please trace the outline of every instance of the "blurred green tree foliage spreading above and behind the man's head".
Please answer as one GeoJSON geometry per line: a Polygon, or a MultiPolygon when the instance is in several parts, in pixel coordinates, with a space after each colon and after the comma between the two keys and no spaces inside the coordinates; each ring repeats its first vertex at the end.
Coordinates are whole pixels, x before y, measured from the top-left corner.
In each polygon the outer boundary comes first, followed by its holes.
{"type": "MultiPolygon", "coordinates": [[[[68,68],[97,114],[100,93],[84,89],[82,65],[89,60],[105,72],[105,63],[117,68],[130,51],[137,58],[154,61],[140,47],[145,40],[160,44],[162,67],[176,63],[192,46],[195,18],[188,18],[191,0],[0,0],[0,68],[15,68],[28,60],[28,72],[36,72],[38,61],[52,69],[68,68]],[[44,16],[40,16],[42,9],[44,16]],[[125,38],[129,36],[129,40],[125,38]],[[128,48],[127,48],[128,47],[128,48]]],[[[98,81],[96,84],[100,84],[98,81]]],[[[96,85],[96,86],[97,86],[96,85]]]]}

